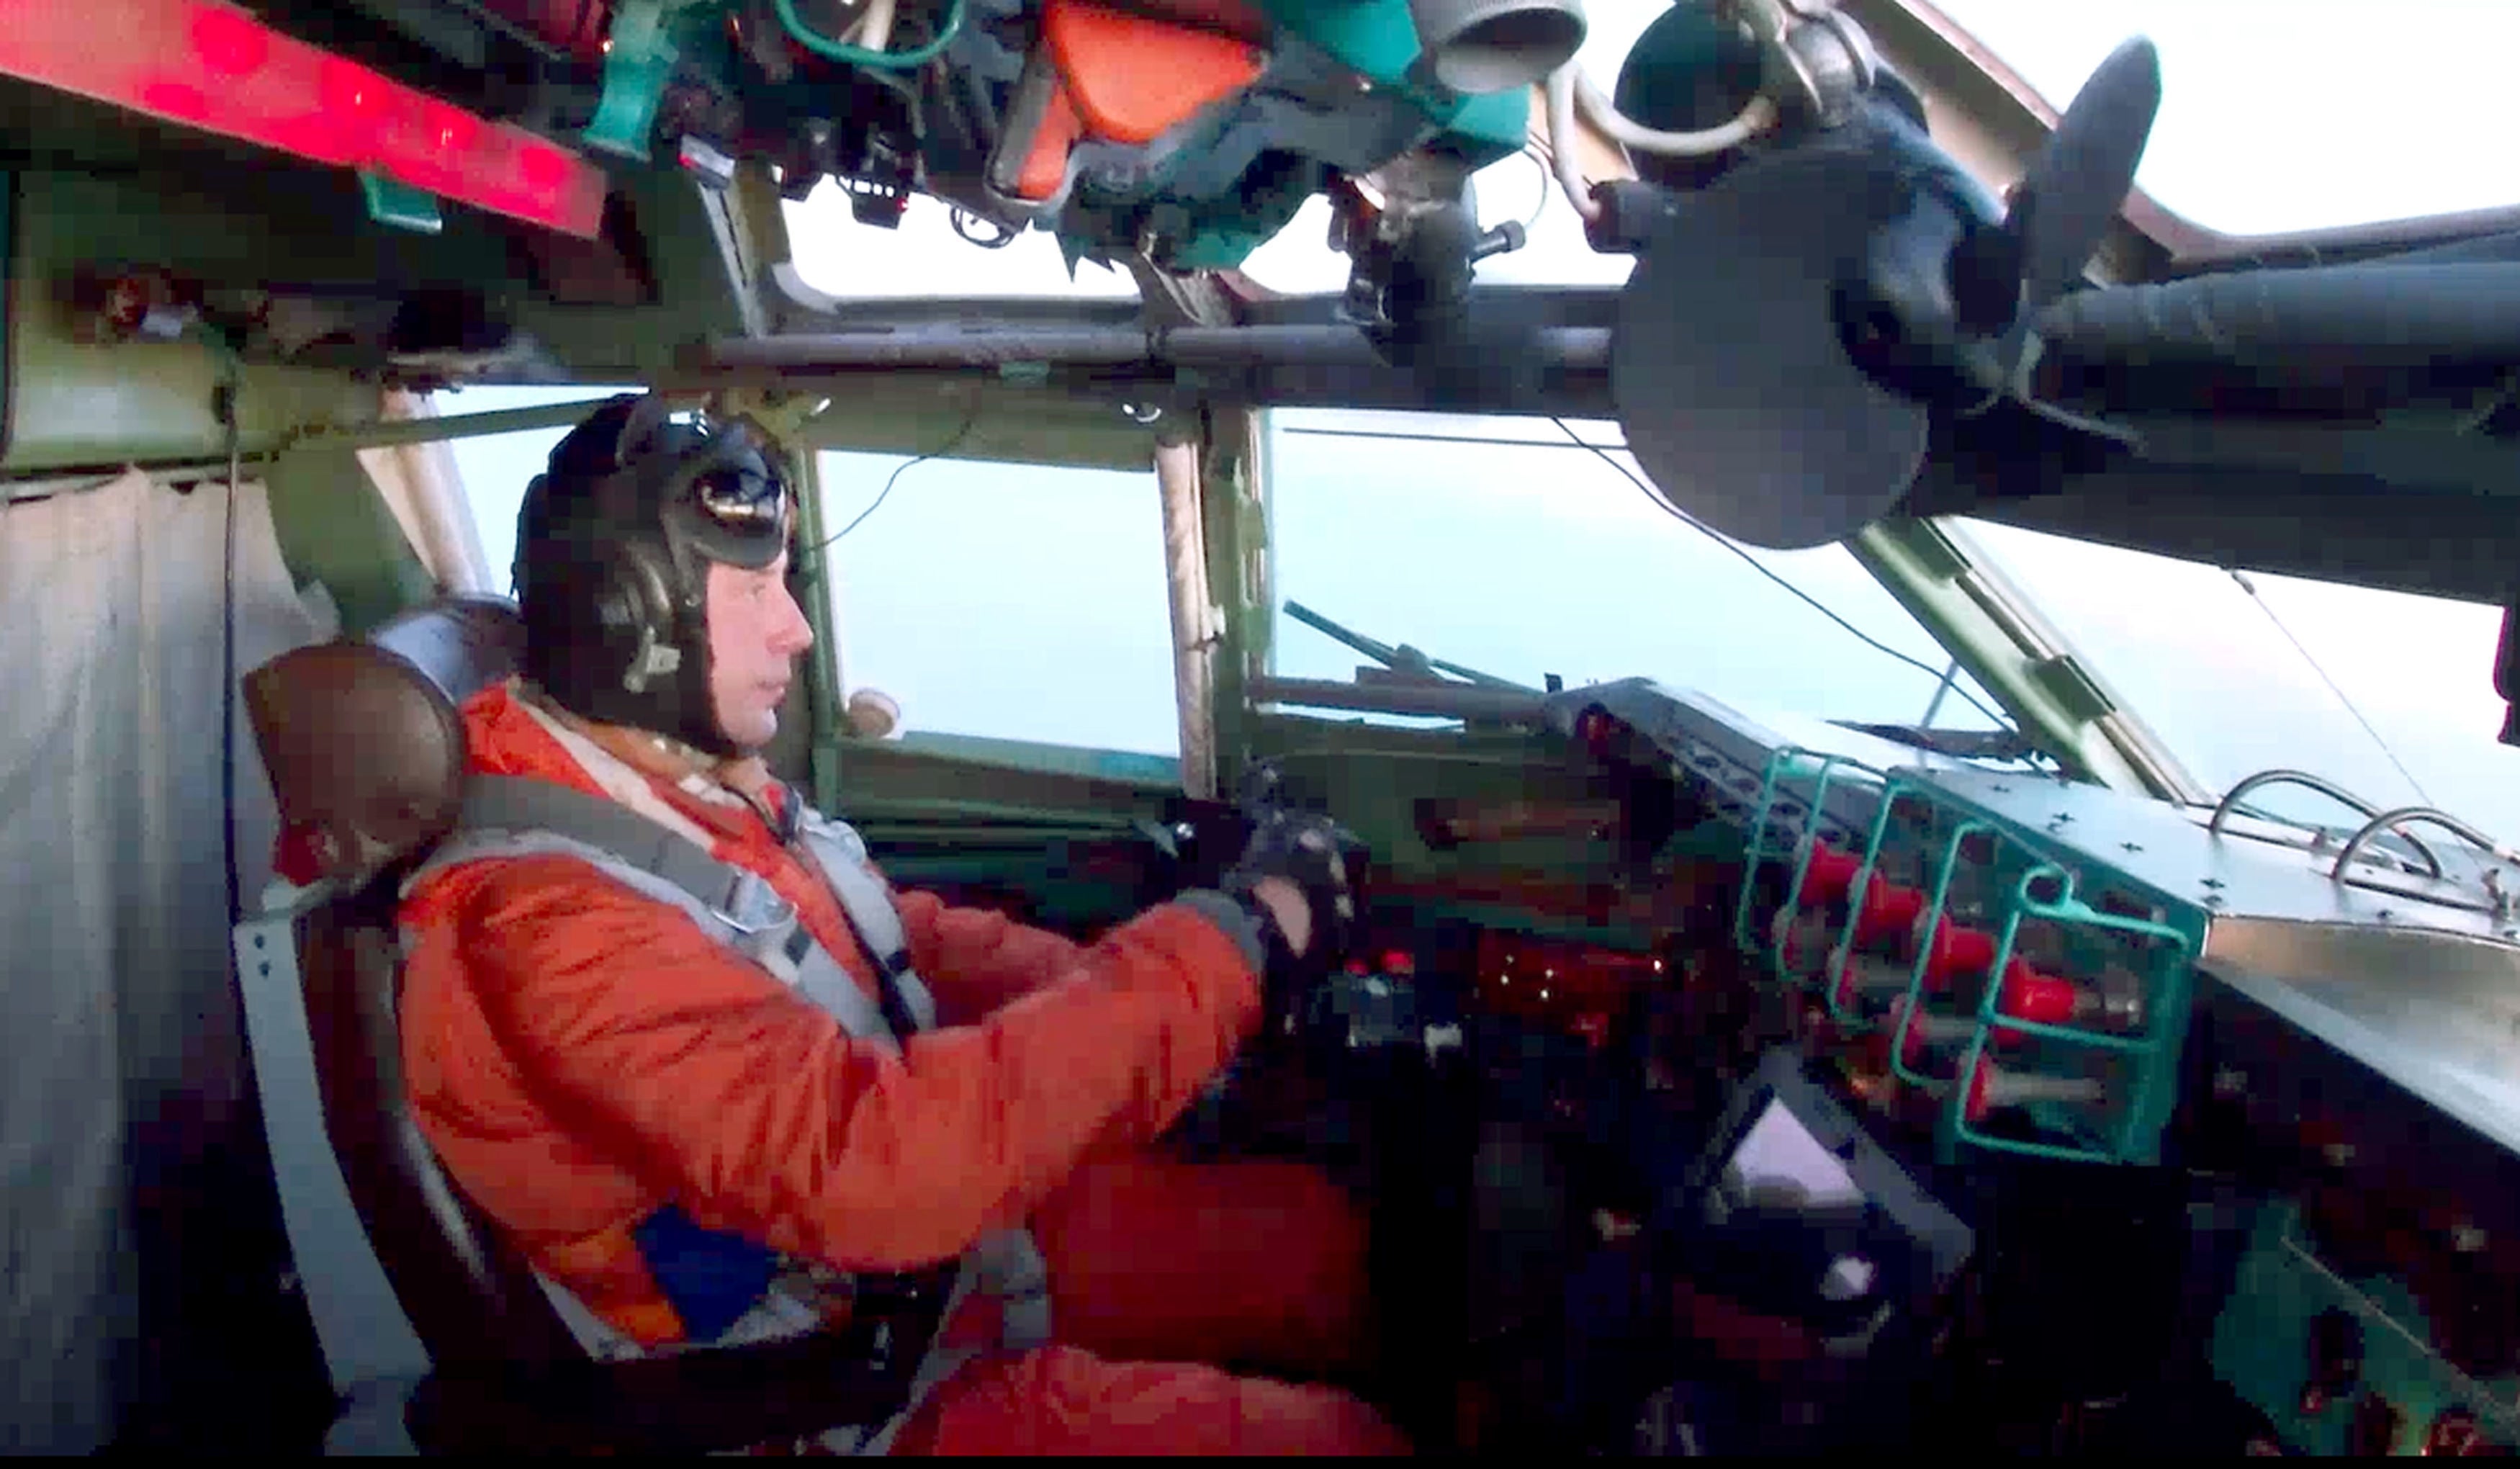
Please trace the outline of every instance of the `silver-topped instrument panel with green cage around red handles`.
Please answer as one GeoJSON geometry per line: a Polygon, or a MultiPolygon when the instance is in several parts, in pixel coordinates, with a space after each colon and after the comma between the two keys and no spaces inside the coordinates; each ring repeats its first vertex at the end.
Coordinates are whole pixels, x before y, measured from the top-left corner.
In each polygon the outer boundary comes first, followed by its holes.
{"type": "Polygon", "coordinates": [[[1643,680],[1550,713],[1741,832],[1741,975],[1867,1129],[1963,1187],[2079,1164],[2187,1192],[2190,1252],[2220,1250],[2197,1346],[2253,1451],[2520,1444],[2495,854],[2344,849],[1643,680]]]}

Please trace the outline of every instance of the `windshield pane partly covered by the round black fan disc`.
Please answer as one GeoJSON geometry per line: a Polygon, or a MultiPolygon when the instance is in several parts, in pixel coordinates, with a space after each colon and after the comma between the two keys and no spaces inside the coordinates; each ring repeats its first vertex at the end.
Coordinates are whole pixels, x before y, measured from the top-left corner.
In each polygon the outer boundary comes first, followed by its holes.
{"type": "MultiPolygon", "coordinates": [[[[1935,728],[1998,728],[1971,700],[2001,706],[1966,673],[1935,698],[1950,655],[1845,547],[1736,554],[1565,431],[1615,446],[1615,423],[1346,411],[1268,423],[1280,607],[1532,688],[1552,673],[1656,678],[1751,711],[1918,726],[1933,708],[1935,728]]],[[[1283,610],[1273,658],[1283,678],[1346,680],[1366,663],[1283,610]]]]}

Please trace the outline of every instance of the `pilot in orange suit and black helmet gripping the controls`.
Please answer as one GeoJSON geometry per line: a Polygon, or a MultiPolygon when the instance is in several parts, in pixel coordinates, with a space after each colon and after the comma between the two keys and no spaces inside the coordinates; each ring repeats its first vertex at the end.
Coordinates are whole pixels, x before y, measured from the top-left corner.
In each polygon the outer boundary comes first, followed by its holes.
{"type": "Polygon", "coordinates": [[[759,758],[811,643],[776,464],[625,396],[527,491],[524,675],[464,706],[464,819],[401,910],[421,1131],[597,1356],[857,1330],[915,1366],[832,1449],[1406,1451],[1320,1386],[1368,1351],[1343,1194],[1157,1146],[1336,952],[1326,824],[1094,945],[892,889],[759,758]]]}

